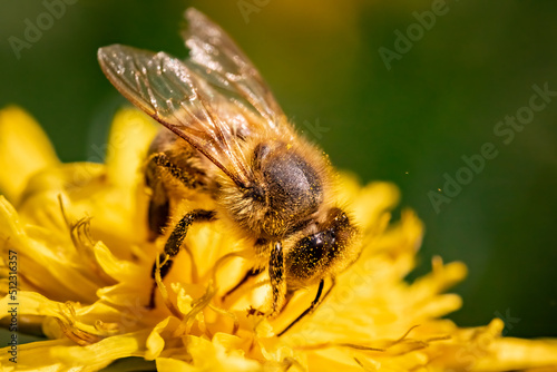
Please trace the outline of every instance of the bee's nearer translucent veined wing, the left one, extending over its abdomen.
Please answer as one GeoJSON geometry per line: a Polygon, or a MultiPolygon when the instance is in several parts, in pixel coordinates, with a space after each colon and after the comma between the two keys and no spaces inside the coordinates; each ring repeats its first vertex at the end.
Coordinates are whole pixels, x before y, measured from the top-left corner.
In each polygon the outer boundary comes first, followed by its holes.
{"type": "Polygon", "coordinates": [[[113,45],[100,48],[98,59],[129,101],[188,141],[238,186],[248,183],[240,141],[260,128],[245,107],[164,52],[113,45]]]}

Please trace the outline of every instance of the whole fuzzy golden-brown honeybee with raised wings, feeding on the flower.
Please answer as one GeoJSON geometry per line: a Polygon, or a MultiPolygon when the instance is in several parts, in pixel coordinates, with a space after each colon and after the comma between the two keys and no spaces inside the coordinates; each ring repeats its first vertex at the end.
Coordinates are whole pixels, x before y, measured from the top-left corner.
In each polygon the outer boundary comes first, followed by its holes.
{"type": "Polygon", "coordinates": [[[110,82],[166,127],[154,139],[146,165],[153,236],[167,226],[177,202],[162,173],[214,200],[214,208],[192,211],[174,227],[162,275],[193,223],[226,219],[253,243],[258,257],[246,277],[268,271],[266,315],[278,314],[295,291],[319,284],[315,300],[292,326],[358,258],[358,228],[338,205],[328,157],[296,134],[247,57],[199,11],[188,9],[185,17],[185,60],[121,45],[98,50],[110,82]],[[323,294],[325,278],[332,284],[323,294]]]}

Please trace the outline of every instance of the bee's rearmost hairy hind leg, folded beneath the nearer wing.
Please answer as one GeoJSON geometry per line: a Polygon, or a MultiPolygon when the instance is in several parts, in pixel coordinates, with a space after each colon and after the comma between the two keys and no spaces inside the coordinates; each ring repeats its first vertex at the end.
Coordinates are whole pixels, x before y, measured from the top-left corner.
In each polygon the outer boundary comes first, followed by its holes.
{"type": "Polygon", "coordinates": [[[163,234],[163,228],[167,225],[170,215],[168,195],[162,180],[163,173],[169,174],[188,188],[198,186],[195,177],[177,167],[165,153],[155,153],[149,157],[145,168],[145,184],[153,190],[148,212],[150,241],[163,234]]]}

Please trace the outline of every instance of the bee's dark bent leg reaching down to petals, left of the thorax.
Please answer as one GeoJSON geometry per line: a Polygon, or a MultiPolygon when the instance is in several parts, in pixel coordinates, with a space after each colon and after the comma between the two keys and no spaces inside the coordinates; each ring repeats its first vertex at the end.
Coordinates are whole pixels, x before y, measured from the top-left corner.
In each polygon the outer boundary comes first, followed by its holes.
{"type": "MultiPolygon", "coordinates": [[[[184,238],[186,237],[187,229],[194,222],[207,222],[215,219],[215,211],[206,211],[206,209],[194,209],[186,214],[182,219],[176,224],[170,236],[165,243],[165,252],[160,254],[159,262],[164,264],[160,265],[160,278],[164,278],[170,267],[173,265],[173,257],[175,257],[184,243],[184,238]]],[[[155,278],[155,274],[157,271],[157,263],[153,264],[153,270],[150,276],[155,278]]],[[[148,309],[155,307],[155,291],[157,290],[157,283],[155,282],[153,288],[150,291],[150,301],[148,309]]]]}

